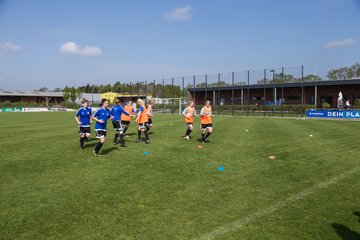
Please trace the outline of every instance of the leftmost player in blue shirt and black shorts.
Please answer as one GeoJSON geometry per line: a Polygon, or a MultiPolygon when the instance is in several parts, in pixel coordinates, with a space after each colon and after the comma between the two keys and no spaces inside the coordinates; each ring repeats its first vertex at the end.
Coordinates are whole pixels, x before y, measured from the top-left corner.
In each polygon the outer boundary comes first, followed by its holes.
{"type": "Polygon", "coordinates": [[[88,100],[83,99],[81,102],[81,108],[79,108],[75,114],[75,120],[79,126],[81,149],[84,149],[85,139],[89,138],[91,135],[91,108],[88,107],[88,105],[88,100]]]}

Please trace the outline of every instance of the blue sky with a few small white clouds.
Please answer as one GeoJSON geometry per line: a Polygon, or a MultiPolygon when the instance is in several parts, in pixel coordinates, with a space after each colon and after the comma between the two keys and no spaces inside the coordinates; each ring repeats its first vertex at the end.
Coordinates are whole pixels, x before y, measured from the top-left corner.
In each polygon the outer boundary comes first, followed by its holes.
{"type": "Polygon", "coordinates": [[[0,0],[0,88],[360,62],[360,0],[0,0]]]}

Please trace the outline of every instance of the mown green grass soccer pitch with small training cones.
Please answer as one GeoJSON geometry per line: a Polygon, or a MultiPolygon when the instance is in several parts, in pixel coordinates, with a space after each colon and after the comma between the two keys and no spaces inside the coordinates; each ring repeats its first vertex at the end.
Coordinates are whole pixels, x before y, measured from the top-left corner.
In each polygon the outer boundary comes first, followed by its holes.
{"type": "Polygon", "coordinates": [[[73,115],[0,113],[1,239],[360,238],[360,122],[157,115],[95,158],[73,115]]]}

